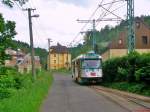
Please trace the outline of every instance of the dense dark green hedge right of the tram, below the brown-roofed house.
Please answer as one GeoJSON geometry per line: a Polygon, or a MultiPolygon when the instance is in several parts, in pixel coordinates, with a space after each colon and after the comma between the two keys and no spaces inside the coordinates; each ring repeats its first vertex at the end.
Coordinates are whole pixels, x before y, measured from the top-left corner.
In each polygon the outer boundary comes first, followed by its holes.
{"type": "Polygon", "coordinates": [[[150,82],[150,54],[136,52],[103,63],[104,82],[150,82]]]}

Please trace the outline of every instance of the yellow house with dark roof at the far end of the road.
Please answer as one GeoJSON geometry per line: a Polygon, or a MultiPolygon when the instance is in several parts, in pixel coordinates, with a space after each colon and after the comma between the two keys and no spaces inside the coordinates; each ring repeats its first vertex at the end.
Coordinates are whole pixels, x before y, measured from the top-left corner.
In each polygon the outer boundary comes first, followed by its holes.
{"type": "Polygon", "coordinates": [[[71,54],[66,46],[59,43],[57,46],[51,46],[48,54],[48,70],[49,69],[69,69],[71,67],[71,54]]]}

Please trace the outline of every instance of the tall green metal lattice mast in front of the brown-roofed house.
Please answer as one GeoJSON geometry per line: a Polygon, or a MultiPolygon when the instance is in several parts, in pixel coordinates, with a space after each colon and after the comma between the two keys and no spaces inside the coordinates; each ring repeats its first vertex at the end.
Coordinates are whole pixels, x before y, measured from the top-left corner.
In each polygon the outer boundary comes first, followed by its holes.
{"type": "Polygon", "coordinates": [[[127,1],[128,53],[135,49],[134,0],[127,1]]]}

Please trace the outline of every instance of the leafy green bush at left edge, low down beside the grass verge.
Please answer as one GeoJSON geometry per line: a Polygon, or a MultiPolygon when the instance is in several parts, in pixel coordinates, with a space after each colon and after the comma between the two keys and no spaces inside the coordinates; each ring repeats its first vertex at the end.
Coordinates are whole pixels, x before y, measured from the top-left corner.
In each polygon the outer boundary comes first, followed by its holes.
{"type": "Polygon", "coordinates": [[[14,68],[0,67],[0,99],[8,98],[12,89],[22,87],[22,76],[14,68]]]}

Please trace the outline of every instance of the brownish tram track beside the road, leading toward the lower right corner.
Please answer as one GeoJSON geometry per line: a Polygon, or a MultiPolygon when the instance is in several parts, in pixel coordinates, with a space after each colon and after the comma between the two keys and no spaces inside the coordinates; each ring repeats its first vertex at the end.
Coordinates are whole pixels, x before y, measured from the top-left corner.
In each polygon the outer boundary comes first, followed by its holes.
{"type": "Polygon", "coordinates": [[[89,86],[89,88],[103,95],[108,100],[118,104],[129,112],[150,112],[150,98],[140,95],[128,94],[102,86],[89,86]],[[138,111],[138,109],[142,109],[138,111]]]}

